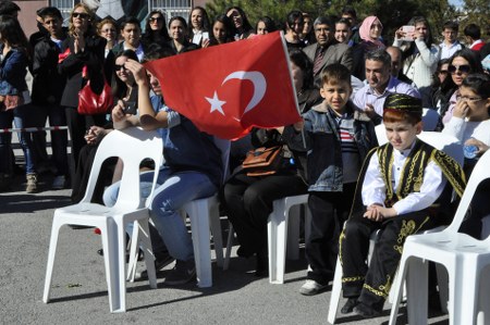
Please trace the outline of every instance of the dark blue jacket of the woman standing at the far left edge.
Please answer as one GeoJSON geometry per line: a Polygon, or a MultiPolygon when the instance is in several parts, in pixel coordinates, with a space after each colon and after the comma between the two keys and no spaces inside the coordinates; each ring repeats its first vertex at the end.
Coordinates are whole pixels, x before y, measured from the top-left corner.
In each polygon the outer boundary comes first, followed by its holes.
{"type": "MultiPolygon", "coordinates": [[[[0,45],[0,53],[3,51],[0,45]]],[[[11,49],[0,63],[0,96],[20,95],[27,90],[27,55],[19,49],[11,49]]]]}

